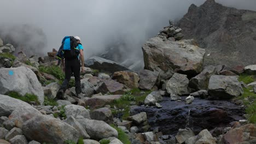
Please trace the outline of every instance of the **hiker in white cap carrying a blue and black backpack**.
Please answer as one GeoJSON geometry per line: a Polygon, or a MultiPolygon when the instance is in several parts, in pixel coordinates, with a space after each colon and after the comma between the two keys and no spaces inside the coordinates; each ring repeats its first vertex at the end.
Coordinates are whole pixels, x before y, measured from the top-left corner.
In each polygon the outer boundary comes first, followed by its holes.
{"type": "MultiPolygon", "coordinates": [[[[81,39],[79,37],[68,36],[62,40],[63,58],[65,58],[65,64],[63,64],[65,80],[57,92],[56,98],[63,99],[63,95],[67,89],[72,74],[74,74],[75,77],[75,92],[77,93],[77,96],[82,92],[80,82],[80,61],[82,62],[82,71],[84,71],[84,47],[80,41],[81,39]]],[[[62,63],[64,61],[63,58],[61,58],[62,63]]]]}

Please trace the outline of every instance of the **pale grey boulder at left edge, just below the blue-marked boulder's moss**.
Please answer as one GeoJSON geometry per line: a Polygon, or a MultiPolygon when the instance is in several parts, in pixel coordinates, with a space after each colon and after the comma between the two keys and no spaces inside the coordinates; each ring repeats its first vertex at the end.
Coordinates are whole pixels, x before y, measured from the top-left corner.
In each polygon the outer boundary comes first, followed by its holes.
{"type": "Polygon", "coordinates": [[[0,94],[0,117],[8,117],[14,110],[22,108],[36,110],[24,101],[0,94]]]}

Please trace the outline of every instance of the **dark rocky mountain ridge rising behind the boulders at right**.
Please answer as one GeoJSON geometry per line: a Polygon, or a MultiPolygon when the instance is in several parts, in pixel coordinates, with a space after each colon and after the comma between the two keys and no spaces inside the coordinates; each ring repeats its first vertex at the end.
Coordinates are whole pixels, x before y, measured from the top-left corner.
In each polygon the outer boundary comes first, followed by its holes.
{"type": "Polygon", "coordinates": [[[196,39],[206,50],[205,65],[255,63],[256,12],[224,7],[207,0],[192,4],[178,22],[185,39],[196,39]]]}

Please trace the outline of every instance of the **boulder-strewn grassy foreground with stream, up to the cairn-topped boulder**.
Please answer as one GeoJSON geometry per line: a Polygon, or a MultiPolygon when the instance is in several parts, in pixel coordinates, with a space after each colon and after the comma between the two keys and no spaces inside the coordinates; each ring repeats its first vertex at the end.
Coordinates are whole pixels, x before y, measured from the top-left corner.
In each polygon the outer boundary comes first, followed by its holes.
{"type": "Polygon", "coordinates": [[[255,143],[256,65],[203,66],[207,50],[183,37],[170,21],[138,73],[87,59],[82,95],[72,77],[64,99],[55,49],[27,57],[0,39],[0,143],[255,143]]]}

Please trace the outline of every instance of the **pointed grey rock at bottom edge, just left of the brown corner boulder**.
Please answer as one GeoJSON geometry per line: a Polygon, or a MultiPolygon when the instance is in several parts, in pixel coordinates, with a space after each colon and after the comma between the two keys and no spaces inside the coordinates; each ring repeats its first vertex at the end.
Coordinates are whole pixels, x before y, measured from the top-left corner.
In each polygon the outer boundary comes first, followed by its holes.
{"type": "Polygon", "coordinates": [[[195,144],[212,143],[216,144],[216,140],[212,137],[211,133],[204,129],[198,135],[195,144]]]}

